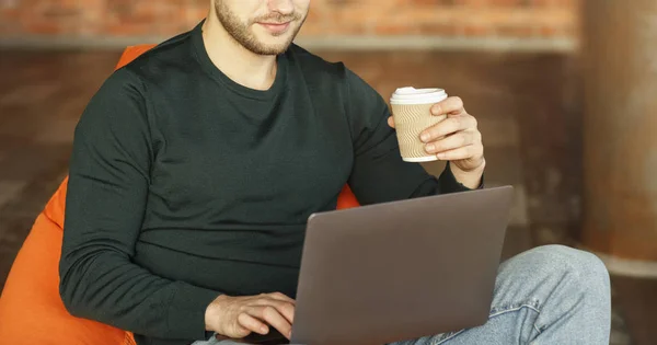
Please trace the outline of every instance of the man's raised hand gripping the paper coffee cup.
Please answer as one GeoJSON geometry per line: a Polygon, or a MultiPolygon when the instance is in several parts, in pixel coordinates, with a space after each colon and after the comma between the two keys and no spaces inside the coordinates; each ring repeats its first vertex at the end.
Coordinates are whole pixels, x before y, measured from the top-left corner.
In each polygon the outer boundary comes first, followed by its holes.
{"type": "MultiPolygon", "coordinates": [[[[445,119],[420,134],[425,150],[439,160],[450,161],[454,177],[463,185],[476,188],[486,164],[476,118],[465,112],[460,97],[437,103],[431,107],[431,115],[445,116],[445,119]]],[[[394,128],[392,116],[388,124],[394,128]]]]}

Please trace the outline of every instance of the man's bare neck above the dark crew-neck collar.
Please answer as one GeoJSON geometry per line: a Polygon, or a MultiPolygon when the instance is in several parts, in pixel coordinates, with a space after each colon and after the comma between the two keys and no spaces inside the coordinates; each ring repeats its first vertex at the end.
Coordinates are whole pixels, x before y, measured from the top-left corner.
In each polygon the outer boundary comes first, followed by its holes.
{"type": "Polygon", "coordinates": [[[203,24],[203,41],[212,64],[234,82],[268,90],[276,79],[276,56],[254,54],[238,42],[210,11],[203,24]]]}

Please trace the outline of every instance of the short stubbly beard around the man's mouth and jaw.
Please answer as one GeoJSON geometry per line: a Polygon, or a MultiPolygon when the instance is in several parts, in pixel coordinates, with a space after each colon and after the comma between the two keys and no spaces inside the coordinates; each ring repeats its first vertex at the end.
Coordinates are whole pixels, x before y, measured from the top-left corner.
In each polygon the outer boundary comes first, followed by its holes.
{"type": "MultiPolygon", "coordinates": [[[[231,35],[233,39],[240,45],[242,45],[244,48],[257,55],[279,55],[285,53],[297,36],[297,34],[299,33],[299,30],[301,30],[301,26],[303,26],[303,22],[306,21],[306,18],[302,18],[301,14],[295,12],[289,15],[273,13],[269,15],[253,19],[249,23],[242,23],[240,19],[237,15],[234,15],[234,13],[232,13],[221,0],[216,1],[215,11],[217,12],[217,18],[219,19],[219,22],[221,23],[221,25],[223,25],[223,28],[228,32],[228,34],[231,35]],[[257,22],[286,23],[298,22],[299,20],[302,21],[296,28],[293,28],[295,31],[291,33],[290,38],[284,44],[267,45],[257,41],[256,36],[250,31],[250,27],[257,22]]],[[[288,34],[290,33],[284,33],[284,35],[288,34]]]]}

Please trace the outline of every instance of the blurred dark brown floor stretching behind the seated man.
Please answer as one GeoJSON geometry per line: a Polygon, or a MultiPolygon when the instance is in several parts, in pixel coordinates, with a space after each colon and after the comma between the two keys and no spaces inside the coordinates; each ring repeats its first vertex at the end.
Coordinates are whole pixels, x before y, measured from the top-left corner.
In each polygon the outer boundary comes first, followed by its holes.
{"type": "MultiPolygon", "coordinates": [[[[573,244],[579,219],[580,87],[562,55],[324,53],[384,96],[396,87],[440,87],[477,116],[487,185],[512,184],[505,256],[543,243],[573,244]]],[[[0,51],[0,287],[37,212],[67,172],[81,111],[118,51],[0,51]]],[[[439,172],[440,164],[427,164],[439,172]]],[[[613,278],[612,344],[655,344],[657,280],[613,278]]]]}

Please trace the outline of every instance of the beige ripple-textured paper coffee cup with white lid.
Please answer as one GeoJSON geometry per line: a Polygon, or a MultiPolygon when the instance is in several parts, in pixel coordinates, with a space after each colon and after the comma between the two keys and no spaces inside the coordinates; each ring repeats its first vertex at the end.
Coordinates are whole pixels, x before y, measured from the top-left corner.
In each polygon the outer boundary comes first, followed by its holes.
{"type": "Polygon", "coordinates": [[[431,106],[445,99],[447,93],[442,89],[400,88],[392,94],[390,105],[404,161],[438,160],[436,154],[427,153],[426,143],[419,139],[419,135],[447,117],[431,115],[431,106]]]}

